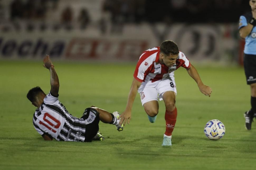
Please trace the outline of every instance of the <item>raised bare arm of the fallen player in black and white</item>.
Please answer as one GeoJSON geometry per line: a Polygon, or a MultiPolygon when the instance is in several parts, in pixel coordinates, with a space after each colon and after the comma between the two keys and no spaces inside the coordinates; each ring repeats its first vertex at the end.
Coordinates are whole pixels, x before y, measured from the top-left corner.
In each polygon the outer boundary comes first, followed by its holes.
{"type": "Polygon", "coordinates": [[[46,69],[49,69],[50,70],[50,83],[51,83],[51,94],[53,96],[58,96],[58,93],[59,93],[59,78],[58,78],[58,75],[54,69],[54,65],[53,63],[51,62],[50,60],[50,57],[49,55],[46,55],[43,59],[43,62],[44,62],[44,67],[46,69]]]}

